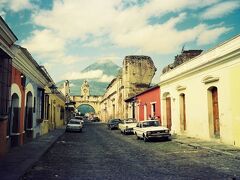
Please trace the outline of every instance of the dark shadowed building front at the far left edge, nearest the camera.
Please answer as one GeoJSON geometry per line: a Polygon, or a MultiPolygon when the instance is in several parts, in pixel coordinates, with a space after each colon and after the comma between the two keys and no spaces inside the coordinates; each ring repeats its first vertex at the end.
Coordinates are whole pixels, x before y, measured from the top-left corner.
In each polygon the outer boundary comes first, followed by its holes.
{"type": "Polygon", "coordinates": [[[0,156],[4,155],[8,149],[12,58],[14,57],[11,46],[16,41],[17,37],[0,16],[0,156]]]}

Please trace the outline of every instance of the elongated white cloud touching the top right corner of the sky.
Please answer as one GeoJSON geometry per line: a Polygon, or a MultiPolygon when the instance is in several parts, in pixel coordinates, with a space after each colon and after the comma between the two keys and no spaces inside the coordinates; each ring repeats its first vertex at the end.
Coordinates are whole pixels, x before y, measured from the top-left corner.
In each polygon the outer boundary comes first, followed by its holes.
{"type": "Polygon", "coordinates": [[[226,1],[219,4],[215,4],[209,7],[202,15],[203,19],[216,19],[226,16],[232,13],[234,10],[239,9],[239,1],[226,1]]]}

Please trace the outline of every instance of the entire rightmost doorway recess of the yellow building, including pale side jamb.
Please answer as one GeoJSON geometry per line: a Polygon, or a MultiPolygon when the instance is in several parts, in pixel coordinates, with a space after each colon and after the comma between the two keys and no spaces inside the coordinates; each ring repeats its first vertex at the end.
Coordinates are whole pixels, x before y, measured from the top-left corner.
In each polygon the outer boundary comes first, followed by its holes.
{"type": "Polygon", "coordinates": [[[218,108],[218,88],[211,86],[207,90],[209,134],[212,138],[220,138],[220,122],[218,108]]]}

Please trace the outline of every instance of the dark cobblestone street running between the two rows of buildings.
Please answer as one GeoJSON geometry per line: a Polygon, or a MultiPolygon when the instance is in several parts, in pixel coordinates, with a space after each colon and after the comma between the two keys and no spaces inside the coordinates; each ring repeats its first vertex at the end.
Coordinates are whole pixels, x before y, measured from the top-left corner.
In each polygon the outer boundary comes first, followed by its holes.
{"type": "Polygon", "coordinates": [[[61,136],[21,179],[240,179],[239,167],[222,153],[87,124],[61,136]]]}

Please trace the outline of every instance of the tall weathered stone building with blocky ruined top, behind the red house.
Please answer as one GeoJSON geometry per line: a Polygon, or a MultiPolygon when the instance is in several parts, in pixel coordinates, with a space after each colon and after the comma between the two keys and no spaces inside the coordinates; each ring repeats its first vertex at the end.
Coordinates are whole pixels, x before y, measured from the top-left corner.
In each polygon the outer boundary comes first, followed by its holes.
{"type": "Polygon", "coordinates": [[[123,67],[117,77],[108,85],[103,95],[100,108],[101,119],[128,118],[129,105],[125,99],[150,87],[156,68],[148,56],[126,56],[123,67]]]}

